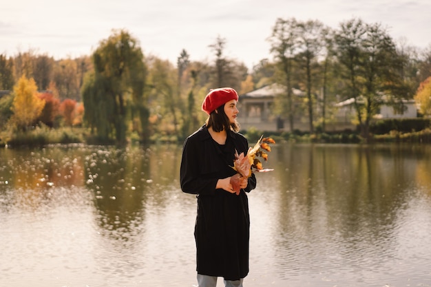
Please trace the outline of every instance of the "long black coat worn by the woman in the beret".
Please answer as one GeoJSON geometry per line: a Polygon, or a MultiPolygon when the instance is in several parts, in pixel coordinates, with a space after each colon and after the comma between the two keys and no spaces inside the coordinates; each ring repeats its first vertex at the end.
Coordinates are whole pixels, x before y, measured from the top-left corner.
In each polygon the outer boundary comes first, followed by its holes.
{"type": "Polygon", "coordinates": [[[197,194],[196,262],[199,274],[238,280],[249,273],[249,202],[246,192],[256,187],[254,174],[240,195],[215,189],[218,179],[233,176],[235,149],[249,149],[242,134],[228,132],[219,145],[206,126],[185,140],[180,169],[181,189],[197,194]]]}

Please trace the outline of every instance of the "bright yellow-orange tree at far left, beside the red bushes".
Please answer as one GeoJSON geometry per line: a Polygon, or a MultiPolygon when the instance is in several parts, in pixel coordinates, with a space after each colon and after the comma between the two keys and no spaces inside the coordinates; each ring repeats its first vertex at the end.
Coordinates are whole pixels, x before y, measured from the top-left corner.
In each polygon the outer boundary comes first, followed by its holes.
{"type": "Polygon", "coordinates": [[[18,127],[28,127],[41,115],[45,100],[37,96],[37,86],[33,78],[21,76],[14,85],[13,120],[18,127]]]}

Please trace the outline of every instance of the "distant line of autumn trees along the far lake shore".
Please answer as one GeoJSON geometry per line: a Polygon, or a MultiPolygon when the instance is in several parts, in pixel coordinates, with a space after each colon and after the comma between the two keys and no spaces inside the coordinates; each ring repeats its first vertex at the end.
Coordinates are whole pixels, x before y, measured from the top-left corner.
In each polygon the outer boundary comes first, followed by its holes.
{"type": "Polygon", "coordinates": [[[76,59],[34,50],[0,54],[0,140],[37,125],[83,127],[93,139],[119,144],[182,140],[204,122],[200,104],[209,89],[244,94],[271,83],[286,87],[275,99],[275,116],[293,127],[295,114],[306,115],[310,134],[324,132],[333,104],[347,98],[355,99],[364,138],[383,98],[397,105],[416,96],[421,115],[430,114],[431,45],[397,43],[381,24],[361,19],[335,30],[318,20],[277,19],[268,36],[268,57],[251,70],[226,54],[222,36],[209,43],[208,61],[191,61],[180,48],[176,63],[144,54],[127,30],[113,30],[91,55],[76,59]]]}

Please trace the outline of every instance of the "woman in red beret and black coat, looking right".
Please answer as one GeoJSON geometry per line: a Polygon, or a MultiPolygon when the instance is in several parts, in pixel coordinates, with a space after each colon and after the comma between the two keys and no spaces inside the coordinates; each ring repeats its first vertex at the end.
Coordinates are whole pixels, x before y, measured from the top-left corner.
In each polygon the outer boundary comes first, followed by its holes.
{"type": "Polygon", "coordinates": [[[247,153],[249,143],[239,134],[235,89],[212,89],[202,110],[209,118],[183,146],[181,189],[197,194],[196,270],[199,287],[242,287],[249,273],[249,203],[246,192],[256,186],[255,176],[242,178],[233,167],[235,151],[247,153]],[[231,180],[239,181],[237,195],[231,180]]]}

